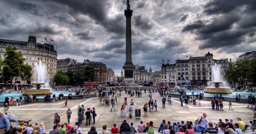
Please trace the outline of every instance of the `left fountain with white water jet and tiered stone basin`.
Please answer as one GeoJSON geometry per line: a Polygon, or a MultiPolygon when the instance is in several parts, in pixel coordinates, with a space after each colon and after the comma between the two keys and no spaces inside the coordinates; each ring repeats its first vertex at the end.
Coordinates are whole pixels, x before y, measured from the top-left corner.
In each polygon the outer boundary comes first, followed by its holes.
{"type": "Polygon", "coordinates": [[[46,84],[44,81],[44,74],[45,74],[45,66],[42,64],[41,60],[38,64],[35,64],[35,70],[37,71],[37,83],[31,83],[36,85],[36,88],[32,89],[25,89],[23,95],[45,95],[45,94],[52,94],[51,88],[41,88],[41,85],[46,84]]]}

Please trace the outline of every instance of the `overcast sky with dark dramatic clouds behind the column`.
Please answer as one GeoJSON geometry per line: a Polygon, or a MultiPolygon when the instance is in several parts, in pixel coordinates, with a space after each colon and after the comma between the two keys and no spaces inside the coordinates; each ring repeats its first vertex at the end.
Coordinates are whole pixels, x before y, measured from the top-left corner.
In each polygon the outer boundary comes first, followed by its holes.
{"type": "MultiPolygon", "coordinates": [[[[1,0],[0,39],[58,42],[58,59],[125,63],[126,0],[1,0]]],[[[256,50],[256,0],[130,0],[132,62],[161,70],[177,59],[235,60],[256,50]]]]}

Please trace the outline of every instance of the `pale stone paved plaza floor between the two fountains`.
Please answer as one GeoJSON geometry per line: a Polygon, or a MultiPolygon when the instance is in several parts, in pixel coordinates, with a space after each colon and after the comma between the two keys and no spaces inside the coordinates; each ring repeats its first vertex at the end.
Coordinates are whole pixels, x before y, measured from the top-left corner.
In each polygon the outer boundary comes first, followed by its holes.
{"type": "MultiPolygon", "coordinates": [[[[143,91],[144,92],[144,91],[143,91]]],[[[225,96],[225,95],[223,95],[225,96]]],[[[168,101],[166,101],[165,109],[162,108],[162,96],[159,96],[158,92],[153,93],[152,99],[156,99],[158,102],[158,109],[157,112],[154,111],[149,112],[147,117],[144,116],[143,112],[143,105],[145,103],[148,103],[149,96],[148,92],[143,93],[142,97],[138,98],[138,96],[131,97],[128,93],[125,94],[125,91],[122,92],[121,97],[117,98],[118,104],[115,105],[116,111],[110,111],[111,105],[109,106],[101,106],[99,103],[98,97],[93,97],[89,99],[81,99],[81,100],[69,100],[68,101],[68,107],[65,107],[64,100],[63,101],[57,101],[54,103],[31,103],[28,105],[20,105],[20,106],[10,106],[10,111],[14,113],[19,120],[26,120],[26,119],[32,119],[30,123],[34,125],[35,122],[44,122],[46,126],[46,133],[49,133],[50,130],[53,129],[53,116],[54,113],[58,113],[61,117],[61,124],[67,122],[66,117],[66,110],[67,108],[70,108],[72,111],[71,116],[71,125],[75,125],[75,122],[78,121],[77,116],[77,108],[78,104],[84,105],[85,108],[88,107],[95,107],[95,111],[97,113],[96,123],[94,126],[96,127],[97,131],[102,130],[103,125],[107,125],[107,129],[110,131],[111,127],[114,123],[116,123],[118,130],[121,125],[121,121],[124,119],[127,120],[127,122],[130,124],[133,122],[136,129],[138,128],[139,122],[143,121],[143,123],[153,121],[154,125],[159,127],[162,119],[167,121],[173,122],[180,122],[180,121],[195,121],[199,116],[202,116],[203,113],[207,113],[207,118],[211,122],[216,122],[221,118],[224,121],[224,119],[233,119],[234,122],[237,121],[236,118],[240,117],[243,122],[249,123],[249,121],[252,121],[253,114],[250,109],[247,108],[246,103],[236,103],[233,102],[233,109],[228,109],[228,103],[227,101],[223,101],[224,105],[224,111],[217,111],[217,110],[211,110],[211,103],[210,101],[201,101],[202,107],[198,107],[198,100],[196,101],[197,105],[193,105],[193,103],[189,103],[188,107],[185,107],[185,104],[183,107],[180,106],[180,100],[179,98],[172,98],[172,105],[168,104],[168,101]],[[121,105],[124,102],[124,96],[128,97],[128,104],[131,99],[133,99],[134,105],[133,105],[133,118],[129,118],[128,116],[128,105],[126,107],[126,114],[127,117],[121,117],[120,115],[120,108],[121,105]],[[135,109],[141,109],[141,118],[135,119],[135,109]]],[[[3,107],[0,107],[1,110],[3,110],[3,107]]],[[[90,127],[93,126],[91,124],[90,126],[86,125],[86,120],[82,123],[84,126],[82,126],[83,133],[86,133],[89,131],[90,127]]],[[[154,129],[155,132],[157,132],[158,129],[154,129]]],[[[251,131],[247,130],[244,133],[250,133],[251,131]]]]}

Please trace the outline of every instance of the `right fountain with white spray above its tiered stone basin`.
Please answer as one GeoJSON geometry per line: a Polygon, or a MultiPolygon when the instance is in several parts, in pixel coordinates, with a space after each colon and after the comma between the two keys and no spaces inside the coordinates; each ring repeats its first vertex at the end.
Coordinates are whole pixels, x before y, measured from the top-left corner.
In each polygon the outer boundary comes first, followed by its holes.
{"type": "Polygon", "coordinates": [[[231,93],[229,87],[223,87],[223,80],[221,75],[222,66],[217,65],[215,63],[213,66],[211,66],[211,72],[212,72],[212,81],[210,83],[214,84],[214,87],[206,87],[205,91],[206,93],[217,93],[217,94],[229,94],[231,93]]]}

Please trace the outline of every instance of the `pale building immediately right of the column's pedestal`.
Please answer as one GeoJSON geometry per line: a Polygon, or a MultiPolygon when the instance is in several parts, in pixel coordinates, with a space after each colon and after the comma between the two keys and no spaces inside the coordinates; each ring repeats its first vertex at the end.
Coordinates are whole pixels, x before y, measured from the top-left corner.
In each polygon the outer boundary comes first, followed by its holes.
{"type": "Polygon", "coordinates": [[[134,79],[136,82],[149,82],[149,73],[145,70],[145,66],[139,66],[138,64],[135,65],[134,69],[134,79]]]}

